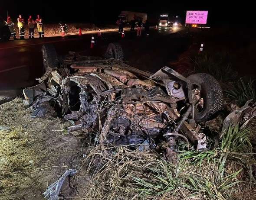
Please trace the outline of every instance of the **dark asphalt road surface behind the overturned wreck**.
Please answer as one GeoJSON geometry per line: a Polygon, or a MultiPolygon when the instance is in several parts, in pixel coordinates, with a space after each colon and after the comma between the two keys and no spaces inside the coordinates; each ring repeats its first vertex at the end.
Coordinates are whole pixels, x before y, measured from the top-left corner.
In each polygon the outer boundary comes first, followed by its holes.
{"type": "Polygon", "coordinates": [[[164,65],[162,57],[173,51],[170,44],[175,44],[180,38],[182,27],[151,29],[149,35],[138,38],[136,32],[125,32],[121,38],[118,32],[103,33],[101,38],[95,36],[95,48],[90,49],[91,34],[66,35],[64,37],[47,37],[44,39],[25,39],[0,43],[0,90],[13,90],[36,84],[35,78],[43,74],[42,55],[43,44],[53,44],[59,55],[68,51],[83,51],[88,55],[102,55],[109,42],[121,42],[124,46],[130,65],[139,65],[142,69],[156,71],[164,65]],[[175,35],[175,37],[174,37],[175,35]],[[171,42],[171,43],[170,43],[171,42]],[[171,49],[171,51],[170,51],[171,49]],[[154,55],[155,56],[154,58],[154,55]],[[152,65],[152,58],[153,64],[152,65]],[[148,65],[145,63],[148,62],[148,65]]]}

